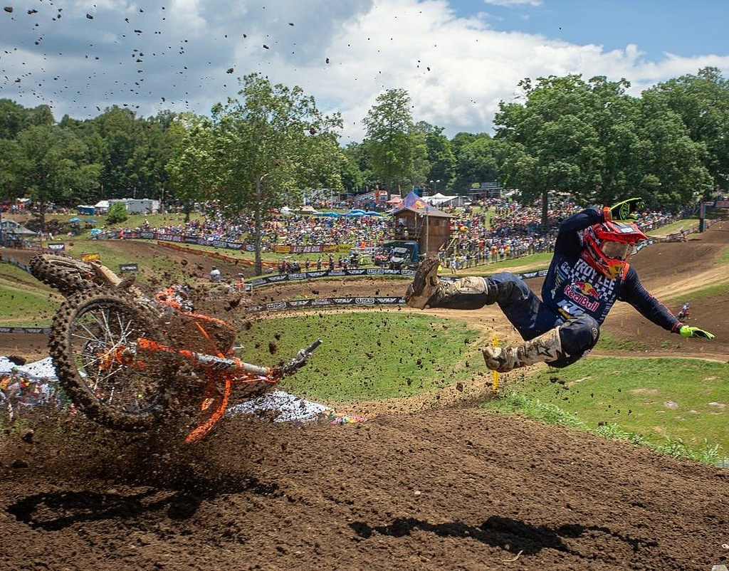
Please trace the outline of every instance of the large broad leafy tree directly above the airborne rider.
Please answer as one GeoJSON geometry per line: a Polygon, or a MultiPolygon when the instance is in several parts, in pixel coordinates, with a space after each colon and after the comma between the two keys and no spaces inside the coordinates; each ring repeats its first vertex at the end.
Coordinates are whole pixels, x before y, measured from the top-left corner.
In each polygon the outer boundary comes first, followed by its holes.
{"type": "Polygon", "coordinates": [[[507,152],[506,184],[526,201],[568,193],[583,204],[640,196],[675,208],[706,187],[705,145],[690,139],[681,118],[658,93],[625,94],[625,79],[580,76],[521,82],[526,104],[501,104],[496,139],[507,152]]]}

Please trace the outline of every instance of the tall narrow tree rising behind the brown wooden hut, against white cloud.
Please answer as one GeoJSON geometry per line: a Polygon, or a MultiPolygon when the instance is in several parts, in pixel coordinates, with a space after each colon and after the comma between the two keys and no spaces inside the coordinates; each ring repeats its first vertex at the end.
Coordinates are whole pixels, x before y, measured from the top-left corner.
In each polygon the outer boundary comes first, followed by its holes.
{"type": "Polygon", "coordinates": [[[424,133],[416,131],[410,96],[403,89],[387,90],[364,118],[370,168],[386,187],[423,183],[430,170],[424,133]]]}

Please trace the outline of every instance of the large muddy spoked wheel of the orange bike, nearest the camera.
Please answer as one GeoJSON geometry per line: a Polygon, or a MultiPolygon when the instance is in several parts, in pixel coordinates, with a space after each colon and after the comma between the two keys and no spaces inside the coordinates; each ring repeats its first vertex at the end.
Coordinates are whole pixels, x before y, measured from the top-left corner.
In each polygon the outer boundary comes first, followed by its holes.
{"type": "Polygon", "coordinates": [[[139,338],[165,343],[149,312],[108,293],[74,295],[53,320],[49,348],[58,381],[98,424],[145,430],[168,408],[178,359],[162,351],[134,354],[139,338]]]}

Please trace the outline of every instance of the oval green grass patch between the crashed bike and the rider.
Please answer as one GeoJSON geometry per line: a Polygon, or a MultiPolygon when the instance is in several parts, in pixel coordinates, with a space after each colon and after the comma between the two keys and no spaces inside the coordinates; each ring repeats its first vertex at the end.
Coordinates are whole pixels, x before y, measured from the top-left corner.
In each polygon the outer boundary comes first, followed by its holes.
{"type": "Polygon", "coordinates": [[[312,361],[284,379],[282,388],[345,403],[416,395],[469,378],[472,362],[484,368],[480,343],[474,342],[478,335],[456,319],[367,311],[266,319],[244,332],[241,342],[246,362],[276,365],[321,338],[312,361]]]}

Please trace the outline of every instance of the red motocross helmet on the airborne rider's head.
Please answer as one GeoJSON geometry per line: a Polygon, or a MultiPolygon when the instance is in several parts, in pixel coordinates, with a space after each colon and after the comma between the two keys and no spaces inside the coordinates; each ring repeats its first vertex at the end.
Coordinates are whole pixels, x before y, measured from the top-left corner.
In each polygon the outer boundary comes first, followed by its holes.
{"type": "Polygon", "coordinates": [[[636,244],[647,240],[634,222],[601,222],[585,228],[582,258],[610,279],[622,275],[636,244]]]}

